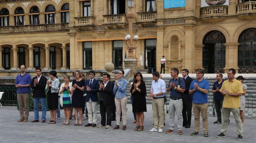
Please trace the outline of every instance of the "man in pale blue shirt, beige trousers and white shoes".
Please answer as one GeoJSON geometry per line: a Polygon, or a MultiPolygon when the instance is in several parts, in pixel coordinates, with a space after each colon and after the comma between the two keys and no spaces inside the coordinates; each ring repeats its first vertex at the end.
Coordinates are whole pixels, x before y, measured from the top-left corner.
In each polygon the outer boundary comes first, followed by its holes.
{"type": "Polygon", "coordinates": [[[152,99],[152,110],[154,118],[154,128],[149,130],[150,132],[158,131],[159,133],[163,132],[163,109],[164,109],[164,93],[166,92],[165,81],[159,78],[159,73],[152,73],[153,80],[150,90],[149,98],[152,99]]]}

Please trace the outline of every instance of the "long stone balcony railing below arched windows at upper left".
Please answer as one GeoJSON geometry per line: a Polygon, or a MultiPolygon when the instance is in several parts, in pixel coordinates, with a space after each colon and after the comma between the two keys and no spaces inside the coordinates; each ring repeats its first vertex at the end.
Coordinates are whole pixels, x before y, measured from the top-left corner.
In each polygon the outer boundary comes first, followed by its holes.
{"type": "Polygon", "coordinates": [[[32,32],[32,31],[62,31],[68,30],[69,23],[20,25],[0,27],[0,32],[32,32]]]}

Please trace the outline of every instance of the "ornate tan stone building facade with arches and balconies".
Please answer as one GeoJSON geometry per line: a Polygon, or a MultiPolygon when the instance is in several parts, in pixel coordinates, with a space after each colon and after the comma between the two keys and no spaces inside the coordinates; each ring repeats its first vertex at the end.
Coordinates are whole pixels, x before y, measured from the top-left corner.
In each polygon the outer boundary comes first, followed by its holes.
{"type": "Polygon", "coordinates": [[[139,36],[137,70],[160,71],[165,55],[166,73],[256,73],[255,1],[201,7],[201,0],[186,0],[185,7],[164,8],[165,1],[134,0],[128,8],[127,0],[0,0],[0,73],[21,64],[61,71],[102,70],[113,62],[123,69],[128,11],[139,36]]]}

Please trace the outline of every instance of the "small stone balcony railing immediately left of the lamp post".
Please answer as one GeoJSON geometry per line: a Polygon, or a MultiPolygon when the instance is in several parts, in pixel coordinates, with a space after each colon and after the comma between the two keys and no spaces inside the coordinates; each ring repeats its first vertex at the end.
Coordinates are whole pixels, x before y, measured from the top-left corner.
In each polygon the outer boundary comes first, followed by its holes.
{"type": "Polygon", "coordinates": [[[103,15],[104,24],[109,23],[125,23],[126,15],[125,14],[116,14],[116,15],[103,15]]]}

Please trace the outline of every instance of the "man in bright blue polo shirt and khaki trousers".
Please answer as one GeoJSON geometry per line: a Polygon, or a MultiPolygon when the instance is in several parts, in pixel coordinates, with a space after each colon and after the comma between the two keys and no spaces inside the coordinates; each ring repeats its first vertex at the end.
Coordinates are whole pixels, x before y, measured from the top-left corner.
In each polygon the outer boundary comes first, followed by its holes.
{"type": "Polygon", "coordinates": [[[196,78],[191,82],[189,88],[189,94],[193,96],[193,112],[195,116],[195,131],[190,135],[198,135],[200,126],[200,112],[203,118],[203,132],[204,137],[208,137],[208,118],[207,118],[207,108],[208,108],[208,90],[209,81],[203,78],[204,70],[196,70],[196,78]]]}

